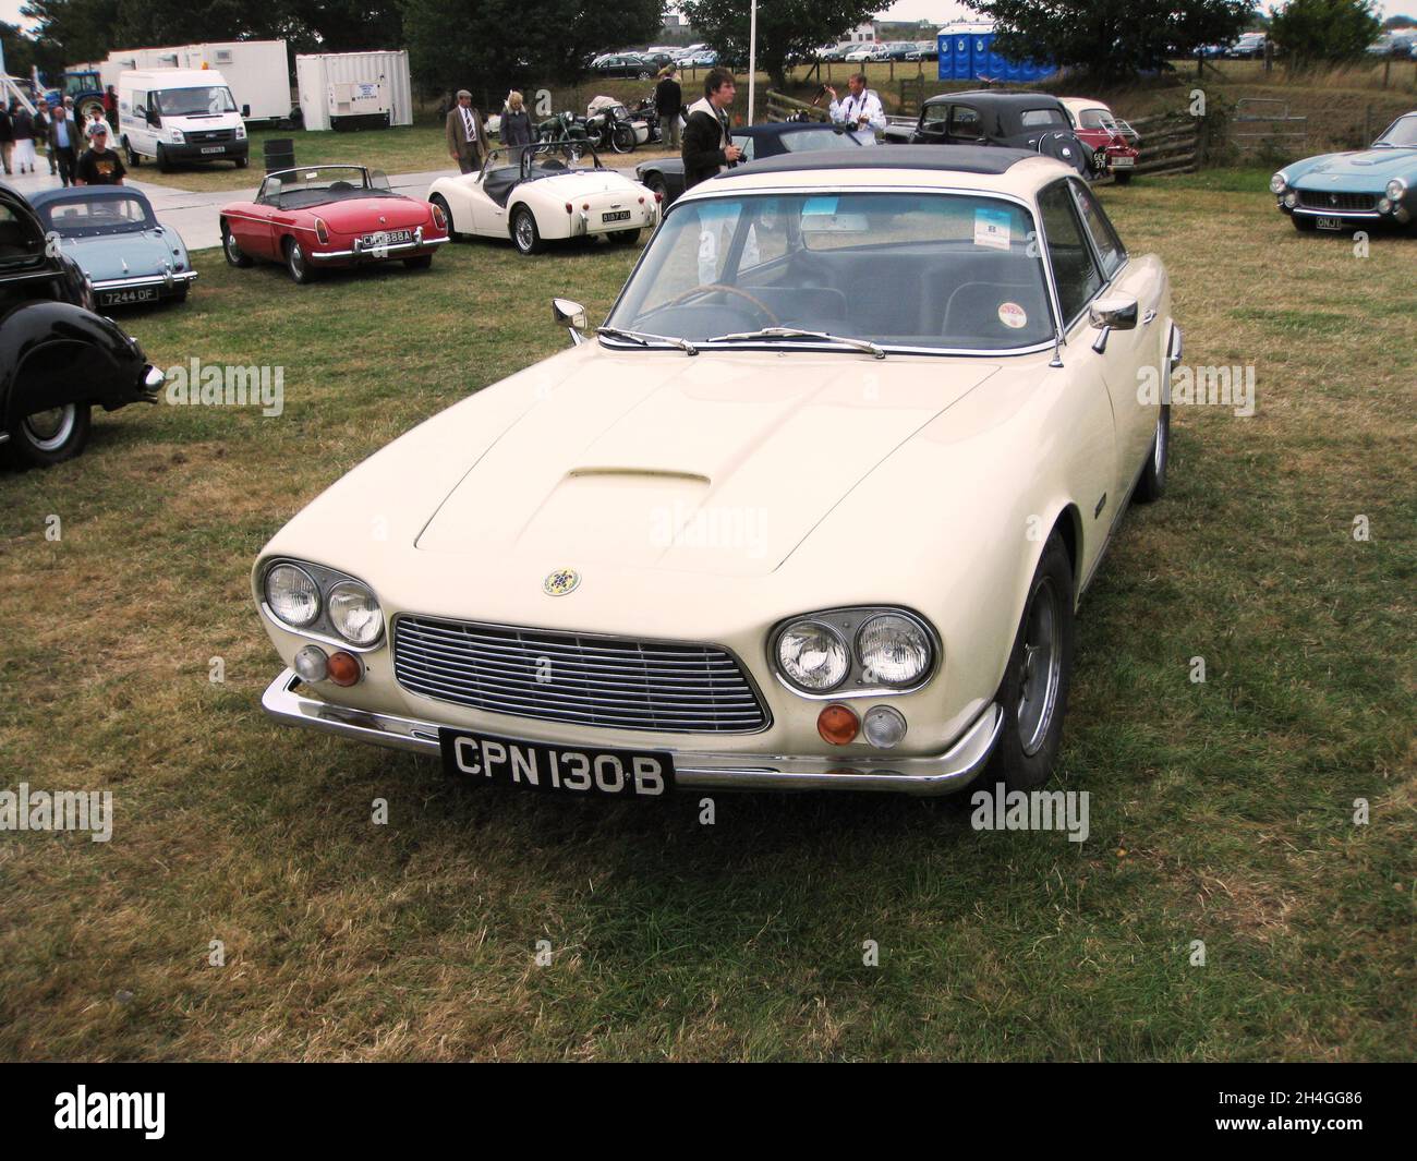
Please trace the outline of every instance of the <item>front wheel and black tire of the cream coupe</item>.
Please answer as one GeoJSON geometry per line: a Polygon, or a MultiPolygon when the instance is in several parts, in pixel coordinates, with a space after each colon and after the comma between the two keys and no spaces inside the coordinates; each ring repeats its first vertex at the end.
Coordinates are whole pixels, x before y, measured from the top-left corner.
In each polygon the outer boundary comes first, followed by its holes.
{"type": "Polygon", "coordinates": [[[1003,709],[1003,729],[989,756],[985,773],[989,785],[1036,790],[1049,780],[1063,739],[1071,680],[1073,563],[1063,537],[1054,532],[1033,570],[1003,682],[995,695],[1003,709]]]}

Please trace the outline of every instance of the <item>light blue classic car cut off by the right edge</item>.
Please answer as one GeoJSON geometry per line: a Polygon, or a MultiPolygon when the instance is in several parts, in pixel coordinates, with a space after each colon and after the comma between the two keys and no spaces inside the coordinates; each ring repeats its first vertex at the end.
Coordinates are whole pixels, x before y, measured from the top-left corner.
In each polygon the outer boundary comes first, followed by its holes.
{"type": "Polygon", "coordinates": [[[1417,230],[1417,109],[1367,149],[1285,166],[1270,179],[1270,191],[1295,230],[1417,230]]]}

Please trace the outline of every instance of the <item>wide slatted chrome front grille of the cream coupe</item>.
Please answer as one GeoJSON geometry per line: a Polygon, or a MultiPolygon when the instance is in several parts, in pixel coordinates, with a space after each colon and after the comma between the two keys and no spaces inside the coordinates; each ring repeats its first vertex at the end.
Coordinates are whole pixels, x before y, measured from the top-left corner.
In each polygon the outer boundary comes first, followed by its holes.
{"type": "Polygon", "coordinates": [[[404,615],[394,676],[410,693],[543,722],[710,734],[768,724],[737,658],[714,645],[404,615]]]}

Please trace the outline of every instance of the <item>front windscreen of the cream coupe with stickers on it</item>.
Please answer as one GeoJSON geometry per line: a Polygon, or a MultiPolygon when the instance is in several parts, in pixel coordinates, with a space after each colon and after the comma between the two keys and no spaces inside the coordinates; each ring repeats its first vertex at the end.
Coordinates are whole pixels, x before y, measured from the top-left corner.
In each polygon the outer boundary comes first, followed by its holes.
{"type": "Polygon", "coordinates": [[[1006,350],[1053,336],[1020,206],[930,193],[760,194],[684,203],[608,325],[747,342],[771,327],[883,346],[1006,350]]]}

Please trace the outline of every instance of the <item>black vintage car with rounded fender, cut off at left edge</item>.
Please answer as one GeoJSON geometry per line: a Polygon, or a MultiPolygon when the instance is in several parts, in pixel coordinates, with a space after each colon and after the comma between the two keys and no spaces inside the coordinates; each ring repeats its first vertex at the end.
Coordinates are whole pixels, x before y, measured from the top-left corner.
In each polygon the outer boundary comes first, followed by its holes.
{"type": "Polygon", "coordinates": [[[89,411],[156,403],[163,373],[45,238],[30,203],[0,184],[0,452],[45,468],[88,442],[89,411]]]}

